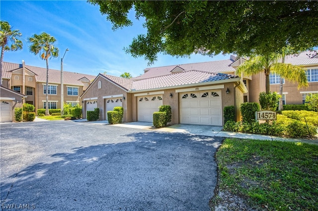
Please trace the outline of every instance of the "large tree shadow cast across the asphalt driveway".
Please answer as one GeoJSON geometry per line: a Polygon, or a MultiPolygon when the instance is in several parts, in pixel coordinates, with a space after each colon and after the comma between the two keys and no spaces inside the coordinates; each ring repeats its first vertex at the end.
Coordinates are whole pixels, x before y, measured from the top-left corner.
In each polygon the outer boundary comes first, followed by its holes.
{"type": "Polygon", "coordinates": [[[54,161],[27,166],[10,176],[12,183],[1,182],[1,204],[41,211],[210,210],[222,138],[148,131],[121,138],[130,141],[61,149],[48,156],[54,161]]]}

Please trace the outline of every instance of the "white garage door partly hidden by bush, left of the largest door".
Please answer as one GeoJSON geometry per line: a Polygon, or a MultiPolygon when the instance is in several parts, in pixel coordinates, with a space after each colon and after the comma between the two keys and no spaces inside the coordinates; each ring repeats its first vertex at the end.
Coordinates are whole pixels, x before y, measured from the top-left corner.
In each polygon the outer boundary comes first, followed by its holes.
{"type": "Polygon", "coordinates": [[[153,113],[162,106],[162,95],[138,97],[138,121],[153,122],[153,113]]]}

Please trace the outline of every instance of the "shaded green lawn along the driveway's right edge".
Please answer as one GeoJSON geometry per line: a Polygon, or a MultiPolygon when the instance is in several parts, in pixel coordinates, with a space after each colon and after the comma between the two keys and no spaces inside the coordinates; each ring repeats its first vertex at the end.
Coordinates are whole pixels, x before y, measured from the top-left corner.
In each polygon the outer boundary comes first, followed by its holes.
{"type": "Polygon", "coordinates": [[[216,154],[220,191],[268,210],[318,210],[318,146],[226,139],[216,154]]]}

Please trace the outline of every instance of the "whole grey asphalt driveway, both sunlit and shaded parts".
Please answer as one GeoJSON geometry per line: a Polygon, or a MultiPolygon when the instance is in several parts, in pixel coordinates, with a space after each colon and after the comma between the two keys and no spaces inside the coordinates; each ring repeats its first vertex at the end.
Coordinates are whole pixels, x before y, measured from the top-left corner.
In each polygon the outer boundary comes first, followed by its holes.
{"type": "Polygon", "coordinates": [[[1,209],[208,211],[221,140],[89,122],[1,124],[1,209]]]}

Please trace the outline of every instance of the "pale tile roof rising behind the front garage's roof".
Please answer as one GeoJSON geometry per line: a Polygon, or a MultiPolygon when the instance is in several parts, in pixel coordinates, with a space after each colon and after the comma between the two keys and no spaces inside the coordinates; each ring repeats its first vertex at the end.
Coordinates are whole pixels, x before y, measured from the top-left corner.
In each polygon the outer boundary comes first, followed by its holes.
{"type": "MultiPolygon", "coordinates": [[[[233,58],[233,57],[231,57],[233,58]]],[[[234,60],[226,59],[219,61],[207,61],[189,64],[178,64],[162,67],[150,67],[145,69],[145,74],[135,77],[135,80],[153,78],[171,74],[171,70],[179,66],[184,70],[201,70],[206,72],[234,72],[235,69],[230,65],[234,60]]]]}

